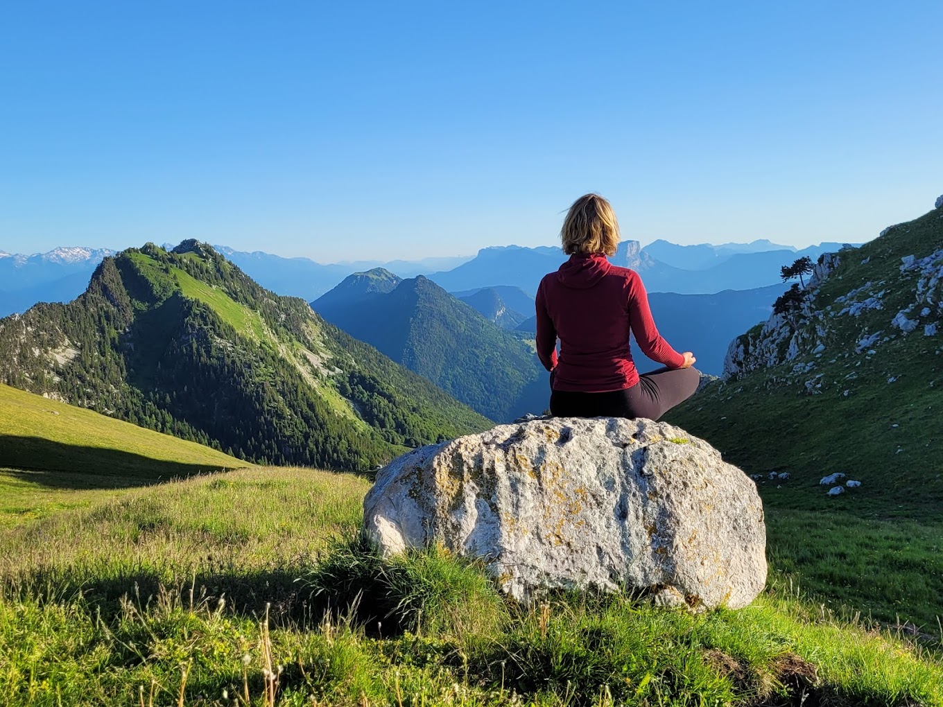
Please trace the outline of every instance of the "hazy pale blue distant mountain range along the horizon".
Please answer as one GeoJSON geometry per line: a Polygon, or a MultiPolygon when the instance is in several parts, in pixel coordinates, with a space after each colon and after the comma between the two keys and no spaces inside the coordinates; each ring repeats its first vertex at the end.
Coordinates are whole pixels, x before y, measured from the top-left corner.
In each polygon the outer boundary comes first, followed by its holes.
{"type": "MultiPolygon", "coordinates": [[[[620,243],[612,258],[617,265],[638,271],[650,292],[686,294],[720,292],[724,289],[761,288],[779,282],[779,268],[796,257],[809,255],[813,260],[822,252],[836,251],[839,243],[821,243],[797,250],[769,240],[723,245],[681,246],[665,240],[639,247],[638,241],[620,243]]],[[[173,245],[165,245],[173,250],[173,245]]],[[[421,260],[394,260],[380,263],[363,260],[321,264],[305,257],[282,257],[256,251],[246,253],[226,246],[214,246],[262,287],[278,294],[301,297],[306,301],[320,297],[347,275],[373,268],[396,273],[399,277],[424,274],[448,291],[471,296],[483,288],[519,288],[534,295],[540,278],[556,270],[565,256],[557,247],[501,246],[484,248],[477,255],[431,257],[421,260]]],[[[95,266],[106,255],[105,249],[57,248],[45,254],[9,255],[0,252],[0,316],[24,312],[37,302],[70,302],[88,285],[95,266]]],[[[499,290],[499,296],[505,299],[499,290]]],[[[502,304],[486,304],[488,295],[478,299],[482,310],[502,304]]],[[[530,315],[504,302],[511,310],[503,317],[507,327],[514,312],[530,315]]],[[[498,316],[497,314],[495,316],[498,316]]],[[[525,318],[526,318],[525,317],[525,318]]]]}

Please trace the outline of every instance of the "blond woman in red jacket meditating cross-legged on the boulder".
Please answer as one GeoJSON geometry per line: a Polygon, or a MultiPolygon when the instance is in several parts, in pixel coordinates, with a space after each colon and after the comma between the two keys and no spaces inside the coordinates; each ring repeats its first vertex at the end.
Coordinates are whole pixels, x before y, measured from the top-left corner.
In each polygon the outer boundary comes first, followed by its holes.
{"type": "Polygon", "coordinates": [[[551,371],[551,413],[660,418],[697,390],[701,374],[691,368],[691,352],[678,354],[658,334],[638,273],[606,259],[619,245],[612,206],[599,194],[581,196],[560,238],[570,259],[545,275],[537,290],[537,353],[551,371]],[[630,330],[642,352],[665,368],[638,374],[630,330]]]}

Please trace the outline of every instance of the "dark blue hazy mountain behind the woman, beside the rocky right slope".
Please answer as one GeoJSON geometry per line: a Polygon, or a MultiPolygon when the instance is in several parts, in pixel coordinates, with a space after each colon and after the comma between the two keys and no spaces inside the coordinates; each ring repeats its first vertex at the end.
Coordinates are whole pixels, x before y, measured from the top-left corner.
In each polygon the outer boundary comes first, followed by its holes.
{"type": "MultiPolygon", "coordinates": [[[[649,293],[649,305],[658,332],[668,339],[675,351],[691,351],[697,356],[697,368],[704,373],[720,375],[727,346],[744,330],[764,321],[772,304],[786,286],[770,285],[747,290],[726,289],[716,294],[649,293]]],[[[536,318],[518,325],[518,331],[534,332],[536,318]]],[[[632,341],[632,355],[638,370],[661,368],[650,360],[632,341]]]]}

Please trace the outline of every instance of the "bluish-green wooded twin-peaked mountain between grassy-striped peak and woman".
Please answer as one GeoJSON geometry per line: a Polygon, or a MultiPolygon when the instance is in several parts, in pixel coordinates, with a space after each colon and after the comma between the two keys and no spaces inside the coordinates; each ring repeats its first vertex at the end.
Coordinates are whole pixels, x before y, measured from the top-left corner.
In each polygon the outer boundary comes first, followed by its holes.
{"type": "MultiPolygon", "coordinates": [[[[386,288],[393,281],[382,282],[386,288]]],[[[351,275],[311,306],[490,419],[507,421],[547,406],[543,368],[521,338],[422,275],[386,292],[366,292],[371,283],[370,273],[351,275]]]]}

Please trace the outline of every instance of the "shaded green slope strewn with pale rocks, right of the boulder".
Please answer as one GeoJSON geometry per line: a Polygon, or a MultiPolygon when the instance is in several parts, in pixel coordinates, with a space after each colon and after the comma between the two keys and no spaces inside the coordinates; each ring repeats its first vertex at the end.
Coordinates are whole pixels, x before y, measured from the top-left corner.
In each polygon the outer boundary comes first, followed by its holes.
{"type": "Polygon", "coordinates": [[[774,567],[927,627],[943,614],[941,281],[943,209],[824,256],[791,310],[732,343],[726,380],[667,416],[760,476],[774,567]],[[861,485],[827,495],[836,472],[861,485]]]}

